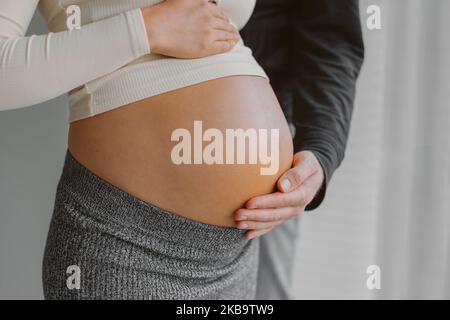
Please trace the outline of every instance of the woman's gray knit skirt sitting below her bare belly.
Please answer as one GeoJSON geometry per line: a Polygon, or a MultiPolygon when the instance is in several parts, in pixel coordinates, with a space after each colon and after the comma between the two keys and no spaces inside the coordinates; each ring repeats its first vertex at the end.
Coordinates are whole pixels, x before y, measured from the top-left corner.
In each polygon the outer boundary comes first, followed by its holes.
{"type": "Polygon", "coordinates": [[[46,299],[253,299],[257,239],[157,208],[67,151],[43,260],[46,299]]]}

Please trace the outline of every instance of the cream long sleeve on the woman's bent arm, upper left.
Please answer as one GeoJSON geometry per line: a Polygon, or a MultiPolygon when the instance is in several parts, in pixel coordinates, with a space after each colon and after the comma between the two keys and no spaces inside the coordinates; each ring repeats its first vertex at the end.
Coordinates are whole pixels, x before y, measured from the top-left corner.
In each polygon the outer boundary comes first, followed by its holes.
{"type": "Polygon", "coordinates": [[[0,111],[52,99],[150,52],[140,9],[25,37],[38,2],[0,2],[0,111]]]}

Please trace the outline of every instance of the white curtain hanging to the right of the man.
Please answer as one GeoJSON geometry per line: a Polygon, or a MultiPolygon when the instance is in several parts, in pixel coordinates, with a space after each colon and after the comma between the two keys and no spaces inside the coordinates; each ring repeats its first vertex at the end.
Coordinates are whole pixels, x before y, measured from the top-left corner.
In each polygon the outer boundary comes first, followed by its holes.
{"type": "Polygon", "coordinates": [[[450,299],[450,1],[361,1],[366,60],[349,145],[301,219],[300,299],[450,299]],[[366,9],[381,8],[368,30],[366,9]],[[381,270],[369,290],[367,267],[381,270]]]}

